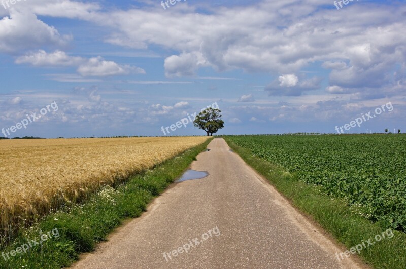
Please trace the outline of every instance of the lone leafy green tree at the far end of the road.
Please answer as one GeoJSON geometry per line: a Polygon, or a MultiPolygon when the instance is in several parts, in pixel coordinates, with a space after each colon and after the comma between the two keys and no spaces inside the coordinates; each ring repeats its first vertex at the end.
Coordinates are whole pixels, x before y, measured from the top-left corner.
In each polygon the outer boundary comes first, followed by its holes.
{"type": "Polygon", "coordinates": [[[194,127],[205,130],[207,136],[213,136],[218,130],[224,128],[224,121],[221,120],[221,110],[209,107],[200,112],[193,122],[194,127]]]}

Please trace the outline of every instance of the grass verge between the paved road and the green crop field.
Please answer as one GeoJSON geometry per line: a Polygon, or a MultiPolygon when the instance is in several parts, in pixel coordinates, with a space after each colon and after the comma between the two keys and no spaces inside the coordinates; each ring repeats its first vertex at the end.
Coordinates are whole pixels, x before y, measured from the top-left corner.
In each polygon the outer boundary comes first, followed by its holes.
{"type": "Polygon", "coordinates": [[[256,157],[250,150],[234,144],[227,137],[223,138],[247,164],[267,178],[295,207],[310,215],[348,250],[365,243],[366,247],[362,247],[359,256],[367,264],[374,268],[406,268],[406,234],[393,230],[393,237],[386,236],[377,242],[376,236],[382,236],[385,227],[354,214],[346,201],[323,194],[318,186],[295,180],[282,168],[256,157]],[[368,240],[376,243],[370,246],[365,242],[368,240]]]}

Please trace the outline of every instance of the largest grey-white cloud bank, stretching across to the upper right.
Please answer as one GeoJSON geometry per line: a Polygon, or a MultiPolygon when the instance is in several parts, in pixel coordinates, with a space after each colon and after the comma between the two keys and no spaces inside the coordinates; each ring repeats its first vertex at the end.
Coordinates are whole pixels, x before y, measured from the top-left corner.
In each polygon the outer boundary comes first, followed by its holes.
{"type": "Polygon", "coordinates": [[[113,11],[108,19],[98,14],[91,20],[115,29],[106,39],[109,43],[136,49],[160,46],[178,52],[165,59],[165,74],[170,77],[193,76],[207,66],[216,71],[287,74],[281,75],[279,86],[296,88],[286,92],[298,95],[300,86],[293,74],[321,62],[331,70],[331,86],[362,91],[364,86],[387,85],[389,70],[405,62],[404,8],[380,3],[365,9],[357,3],[339,13],[325,9],[325,4],[260,1],[244,9],[199,12],[199,6],[185,3],[171,12],[129,9],[113,11]],[[171,25],[170,30],[160,21],[171,25]]]}

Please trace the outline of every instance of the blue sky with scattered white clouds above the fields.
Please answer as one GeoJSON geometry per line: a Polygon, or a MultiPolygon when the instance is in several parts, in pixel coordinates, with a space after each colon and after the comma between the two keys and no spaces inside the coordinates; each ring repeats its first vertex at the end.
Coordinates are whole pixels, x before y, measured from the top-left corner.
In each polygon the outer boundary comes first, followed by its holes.
{"type": "Polygon", "coordinates": [[[208,106],[218,134],[406,132],[406,2],[0,0],[0,136],[205,135],[208,106]]]}

